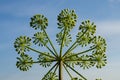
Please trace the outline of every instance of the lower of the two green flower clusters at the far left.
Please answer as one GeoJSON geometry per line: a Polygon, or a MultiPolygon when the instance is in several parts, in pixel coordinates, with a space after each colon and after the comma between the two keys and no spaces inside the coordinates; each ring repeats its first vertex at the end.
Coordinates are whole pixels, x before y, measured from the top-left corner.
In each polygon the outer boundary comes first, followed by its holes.
{"type": "Polygon", "coordinates": [[[32,57],[28,56],[27,54],[21,55],[20,57],[17,57],[17,63],[16,66],[22,71],[27,71],[29,68],[32,67],[33,60],[32,57]]]}

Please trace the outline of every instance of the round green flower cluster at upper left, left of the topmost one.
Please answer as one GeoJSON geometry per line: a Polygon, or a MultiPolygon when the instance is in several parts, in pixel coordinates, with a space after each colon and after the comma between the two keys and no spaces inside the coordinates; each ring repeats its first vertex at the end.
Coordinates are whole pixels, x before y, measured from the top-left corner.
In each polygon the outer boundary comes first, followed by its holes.
{"type": "Polygon", "coordinates": [[[46,29],[46,27],[48,26],[48,20],[44,15],[37,14],[31,18],[30,26],[35,30],[43,30],[46,29]]]}

